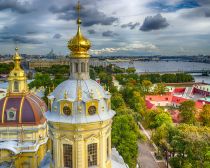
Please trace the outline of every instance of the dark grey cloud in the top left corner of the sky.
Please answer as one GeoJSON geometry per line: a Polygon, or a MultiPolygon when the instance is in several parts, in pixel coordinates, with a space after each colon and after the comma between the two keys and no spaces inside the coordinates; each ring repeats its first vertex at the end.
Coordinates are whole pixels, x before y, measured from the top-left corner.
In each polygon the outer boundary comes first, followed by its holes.
{"type": "Polygon", "coordinates": [[[21,14],[34,10],[28,2],[20,3],[17,0],[0,0],[0,11],[7,9],[21,14]]]}

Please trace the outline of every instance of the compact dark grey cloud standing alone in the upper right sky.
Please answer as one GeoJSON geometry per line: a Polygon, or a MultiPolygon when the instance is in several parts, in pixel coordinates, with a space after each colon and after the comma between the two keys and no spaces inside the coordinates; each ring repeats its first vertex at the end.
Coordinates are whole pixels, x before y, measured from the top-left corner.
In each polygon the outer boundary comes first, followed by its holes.
{"type": "Polygon", "coordinates": [[[141,31],[152,31],[164,29],[169,26],[166,18],[162,17],[161,14],[155,16],[147,16],[144,20],[143,25],[140,27],[141,31]]]}

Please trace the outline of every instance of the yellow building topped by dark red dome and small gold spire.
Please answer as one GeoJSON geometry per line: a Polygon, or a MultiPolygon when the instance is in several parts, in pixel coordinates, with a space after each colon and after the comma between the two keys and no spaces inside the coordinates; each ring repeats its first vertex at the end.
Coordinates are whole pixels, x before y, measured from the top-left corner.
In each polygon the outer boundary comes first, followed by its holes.
{"type": "Polygon", "coordinates": [[[29,92],[21,56],[13,56],[6,97],[0,100],[0,165],[38,168],[47,151],[45,103],[29,92]]]}

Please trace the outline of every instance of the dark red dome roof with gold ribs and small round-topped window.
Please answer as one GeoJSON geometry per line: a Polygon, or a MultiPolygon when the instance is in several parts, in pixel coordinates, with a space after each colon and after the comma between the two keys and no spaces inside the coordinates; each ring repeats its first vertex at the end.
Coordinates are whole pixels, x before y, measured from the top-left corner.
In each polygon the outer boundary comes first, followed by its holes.
{"type": "Polygon", "coordinates": [[[43,124],[46,111],[44,101],[32,93],[5,97],[0,100],[0,126],[43,124]]]}

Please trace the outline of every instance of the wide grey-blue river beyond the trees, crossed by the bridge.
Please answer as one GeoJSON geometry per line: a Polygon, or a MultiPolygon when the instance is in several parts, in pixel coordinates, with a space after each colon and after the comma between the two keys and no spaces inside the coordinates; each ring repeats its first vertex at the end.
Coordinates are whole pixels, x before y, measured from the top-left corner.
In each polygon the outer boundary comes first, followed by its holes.
{"type": "MultiPolygon", "coordinates": [[[[128,68],[134,66],[137,72],[171,72],[171,71],[191,71],[210,69],[210,64],[198,62],[183,62],[183,61],[134,61],[115,62],[119,67],[128,68]]],[[[196,82],[205,82],[210,84],[210,76],[202,76],[202,74],[192,74],[196,82]]]]}

